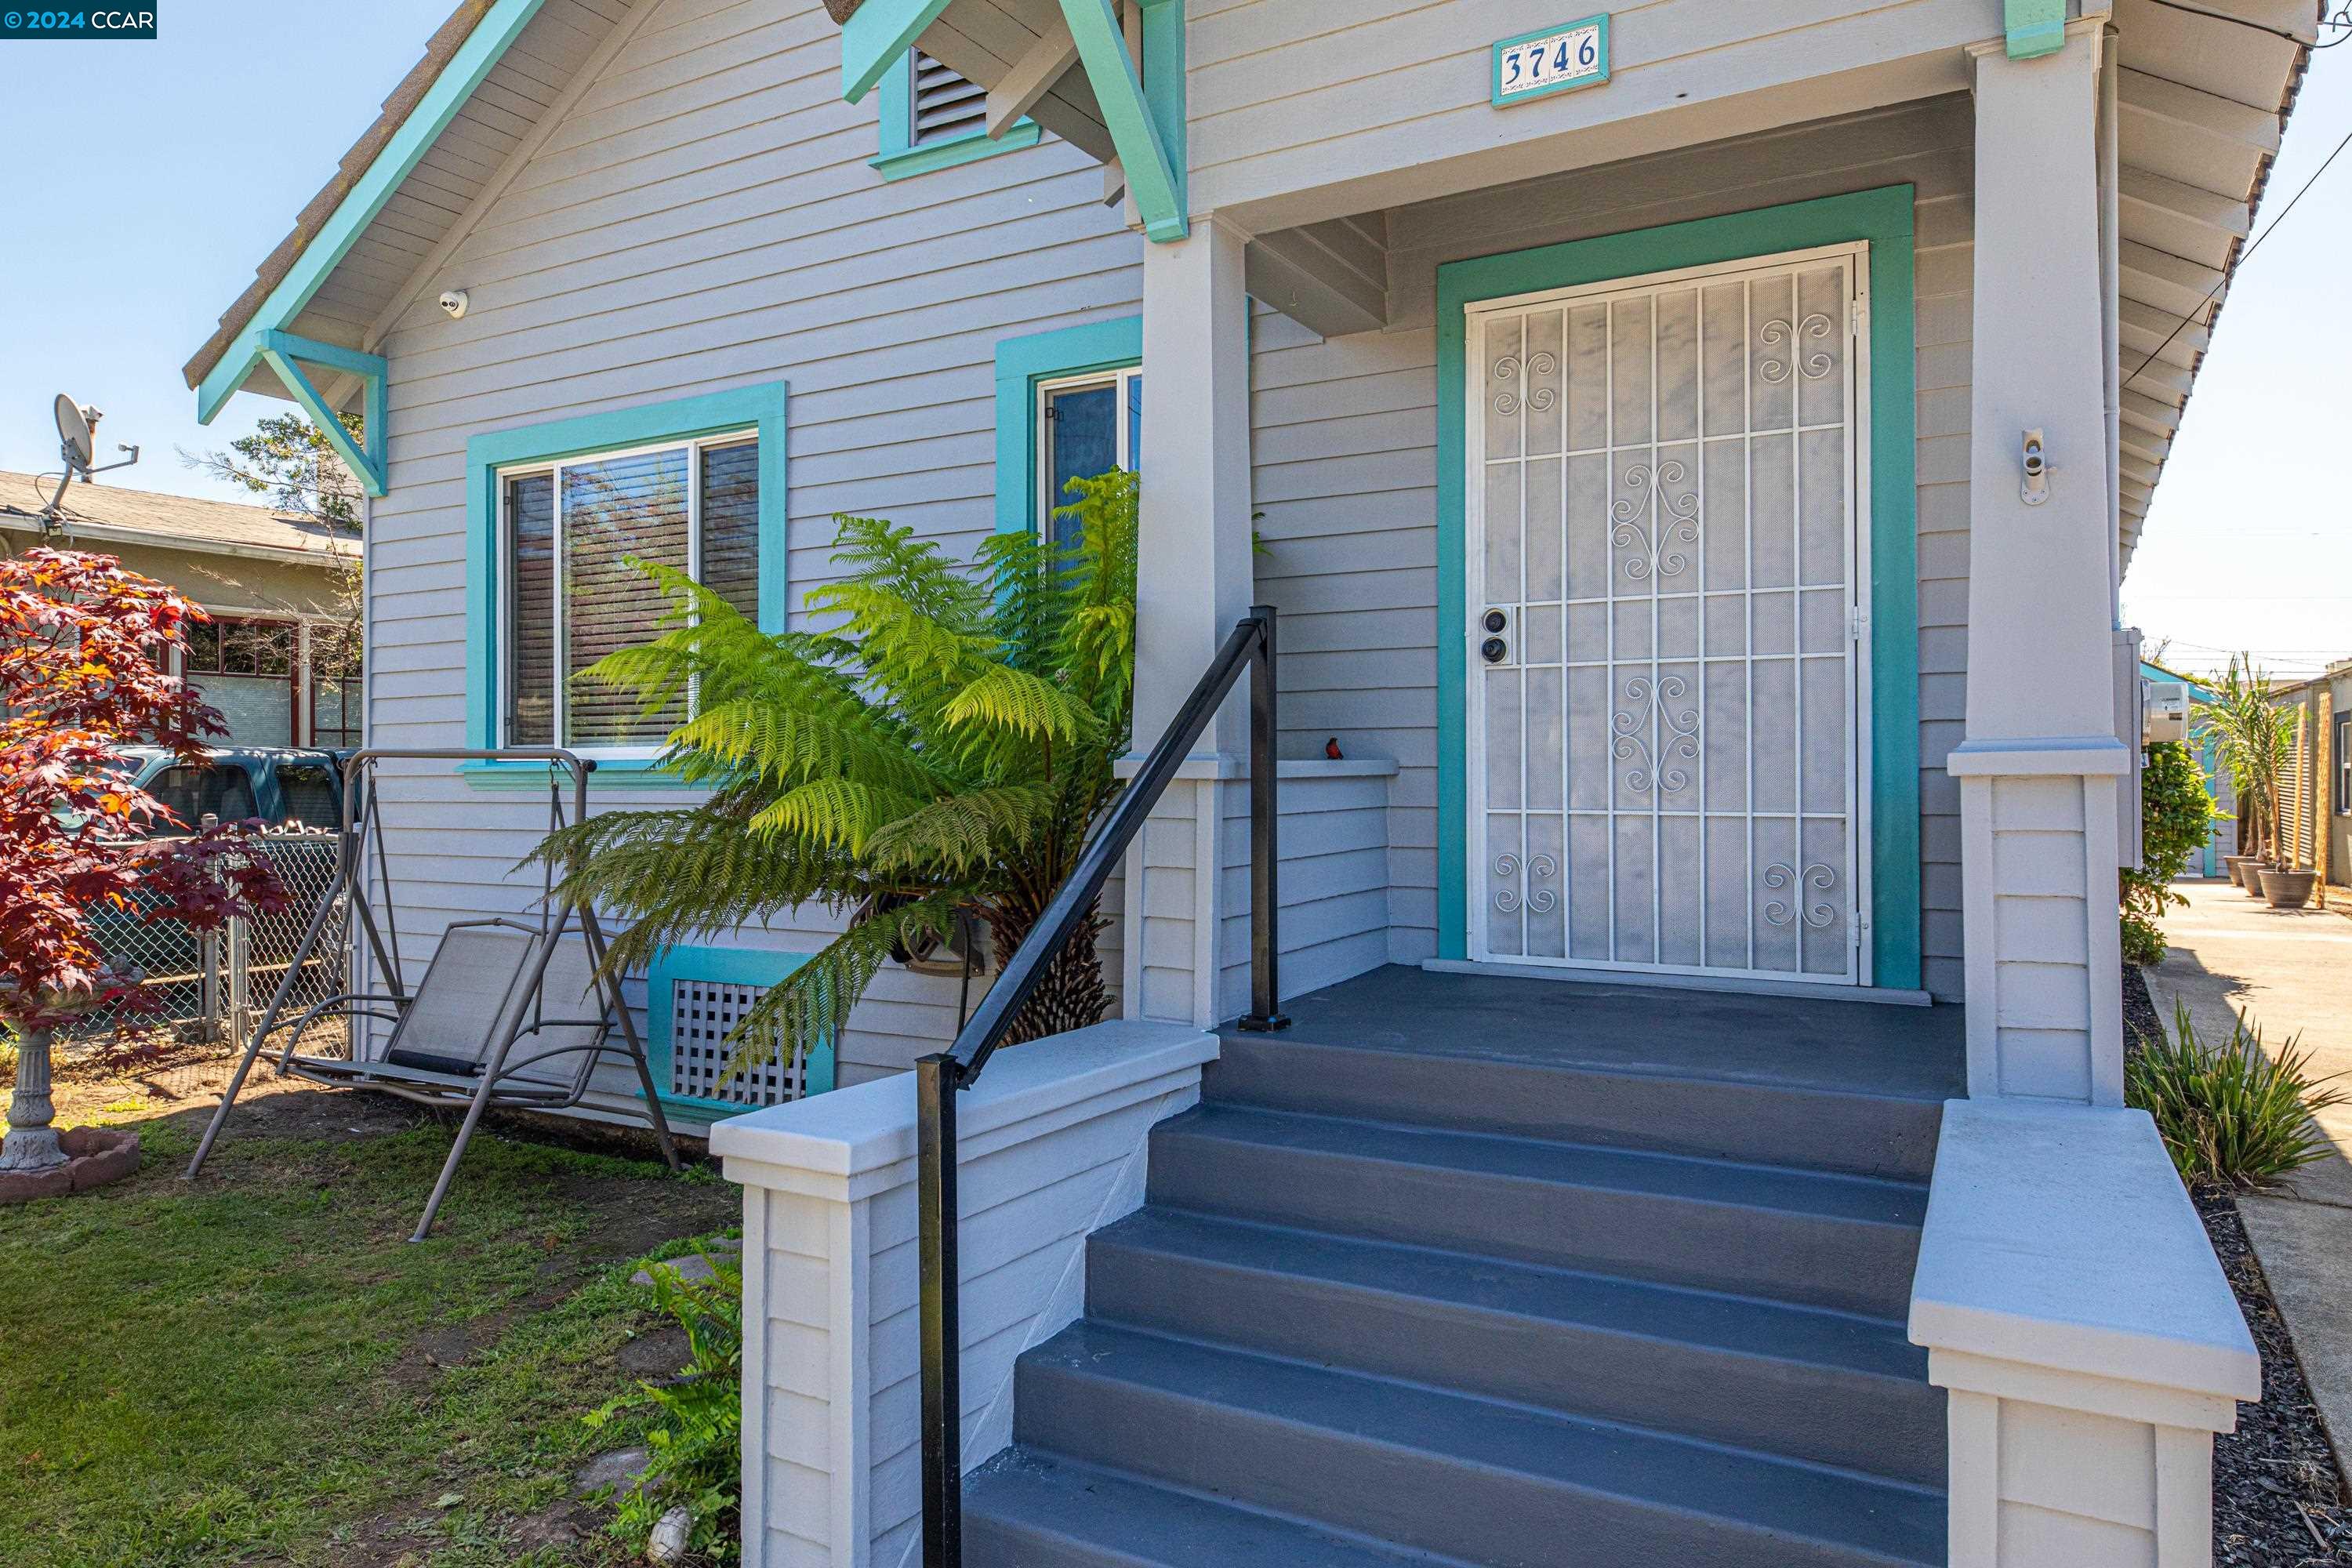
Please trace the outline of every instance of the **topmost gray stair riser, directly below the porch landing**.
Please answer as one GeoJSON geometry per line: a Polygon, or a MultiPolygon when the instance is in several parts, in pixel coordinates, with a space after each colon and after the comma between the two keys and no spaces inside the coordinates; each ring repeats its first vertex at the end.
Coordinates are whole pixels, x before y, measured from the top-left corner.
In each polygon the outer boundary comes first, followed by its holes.
{"type": "Polygon", "coordinates": [[[1399,1048],[1235,1030],[1202,1095],[1896,1180],[1924,1182],[1936,1166],[1945,1095],[1917,1072],[1851,1072],[1832,1084],[1797,1051],[1773,1060],[1686,1053],[1682,1065],[1590,1056],[1602,1060],[1536,1041],[1470,1053],[1461,1039],[1399,1048]]]}

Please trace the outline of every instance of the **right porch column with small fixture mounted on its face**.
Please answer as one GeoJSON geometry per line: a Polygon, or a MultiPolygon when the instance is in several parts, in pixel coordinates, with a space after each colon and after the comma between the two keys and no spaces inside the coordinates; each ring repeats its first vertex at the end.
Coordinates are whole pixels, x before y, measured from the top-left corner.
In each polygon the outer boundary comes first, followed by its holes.
{"type": "Polygon", "coordinates": [[[1969,726],[1962,797],[1969,1093],[2124,1098],[2117,947],[2114,512],[2105,470],[2098,19],[1976,49],[1969,726]],[[2027,494],[2025,440],[2049,463],[2027,494]]]}

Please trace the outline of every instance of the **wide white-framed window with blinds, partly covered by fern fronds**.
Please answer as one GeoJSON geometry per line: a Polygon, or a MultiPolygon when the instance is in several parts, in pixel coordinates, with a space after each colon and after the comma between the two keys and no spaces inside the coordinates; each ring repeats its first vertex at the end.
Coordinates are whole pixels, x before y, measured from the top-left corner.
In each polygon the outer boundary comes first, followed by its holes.
{"type": "Polygon", "coordinates": [[[579,672],[647,642],[666,597],[630,562],[760,614],[755,433],[499,470],[506,743],[652,752],[684,717],[579,672]]]}

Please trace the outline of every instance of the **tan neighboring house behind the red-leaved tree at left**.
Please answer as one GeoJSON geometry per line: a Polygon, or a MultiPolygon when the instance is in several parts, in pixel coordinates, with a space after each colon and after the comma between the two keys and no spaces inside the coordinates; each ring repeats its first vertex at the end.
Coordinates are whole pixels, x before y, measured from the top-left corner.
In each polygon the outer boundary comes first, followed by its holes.
{"type": "Polygon", "coordinates": [[[360,541],[268,505],[122,484],[73,484],[54,527],[56,475],[0,473],[0,548],[49,543],[120,555],[212,621],[188,632],[179,675],[228,719],[223,745],[358,745],[360,541]]]}

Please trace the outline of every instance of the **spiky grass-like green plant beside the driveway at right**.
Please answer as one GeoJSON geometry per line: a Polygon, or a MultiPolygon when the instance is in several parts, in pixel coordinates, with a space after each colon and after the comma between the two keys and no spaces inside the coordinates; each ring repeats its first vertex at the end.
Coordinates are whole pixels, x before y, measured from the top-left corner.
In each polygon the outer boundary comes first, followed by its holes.
{"type": "Polygon", "coordinates": [[[2124,1063],[2124,1103],[2157,1121],[2180,1180],[2253,1187],[2328,1157],[2312,1117],[2345,1103],[2345,1091],[2312,1079],[2310,1053],[2288,1037],[2277,1056],[2237,1016],[2223,1044],[2197,1039],[2190,1011],[2173,1004],[2173,1032],[2143,1041],[2124,1063]]]}

